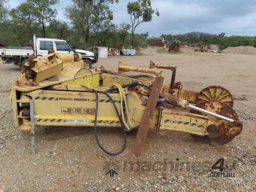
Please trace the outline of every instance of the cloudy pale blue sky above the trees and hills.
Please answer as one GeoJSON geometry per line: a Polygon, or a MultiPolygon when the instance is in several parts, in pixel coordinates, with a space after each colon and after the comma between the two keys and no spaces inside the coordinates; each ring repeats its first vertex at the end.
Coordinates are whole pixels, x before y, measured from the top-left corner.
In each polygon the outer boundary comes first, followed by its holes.
{"type": "MultiPolygon", "coordinates": [[[[130,0],[132,1],[132,0],[130,0]]],[[[130,23],[126,12],[129,0],[119,0],[111,5],[114,12],[113,23],[130,23]]],[[[10,0],[11,8],[24,0],[10,0]]],[[[60,0],[54,6],[58,18],[66,20],[65,7],[71,1],[60,0]]],[[[151,23],[143,23],[136,33],[149,32],[150,35],[179,34],[200,31],[213,34],[225,32],[226,35],[256,35],[256,0],[152,0],[152,5],[160,12],[151,23]]]]}

